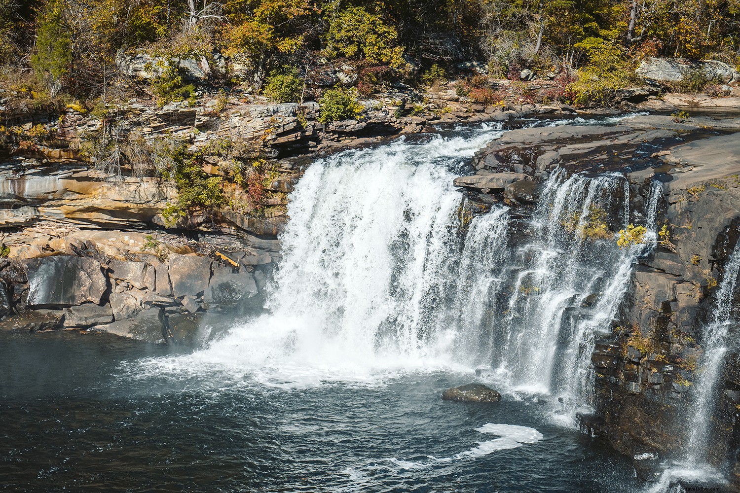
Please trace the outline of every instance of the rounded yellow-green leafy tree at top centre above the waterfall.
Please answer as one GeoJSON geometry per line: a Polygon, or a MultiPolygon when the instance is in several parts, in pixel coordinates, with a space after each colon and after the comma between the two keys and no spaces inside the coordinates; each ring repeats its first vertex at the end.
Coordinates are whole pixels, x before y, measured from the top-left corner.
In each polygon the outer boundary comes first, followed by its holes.
{"type": "Polygon", "coordinates": [[[403,67],[403,47],[398,46],[398,33],[380,15],[363,7],[340,10],[329,24],[326,42],[328,52],[349,58],[360,58],[374,64],[403,67]]]}

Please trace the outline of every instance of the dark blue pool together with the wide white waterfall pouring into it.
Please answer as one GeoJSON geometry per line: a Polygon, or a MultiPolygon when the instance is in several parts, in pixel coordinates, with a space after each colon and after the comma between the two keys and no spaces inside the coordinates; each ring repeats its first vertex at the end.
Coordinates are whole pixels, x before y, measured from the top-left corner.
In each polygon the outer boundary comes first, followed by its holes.
{"type": "Polygon", "coordinates": [[[497,135],[458,129],[312,164],[269,310],[207,324],[194,351],[2,335],[0,485],[634,491],[629,460],[573,415],[591,399],[585,348],[649,247],[582,233],[614,204],[616,226],[653,229],[657,201],[639,217],[619,175],[555,173],[531,218],[494,205],[461,220],[452,180],[497,135]],[[502,402],[441,401],[474,379],[502,402]]]}

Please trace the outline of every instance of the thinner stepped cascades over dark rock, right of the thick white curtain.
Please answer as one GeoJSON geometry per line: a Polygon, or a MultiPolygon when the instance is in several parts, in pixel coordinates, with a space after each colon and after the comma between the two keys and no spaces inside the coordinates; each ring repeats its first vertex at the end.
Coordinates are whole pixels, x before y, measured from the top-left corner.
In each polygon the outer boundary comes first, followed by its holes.
{"type": "MultiPolygon", "coordinates": [[[[654,218],[659,194],[653,195],[646,214],[654,218]]],[[[629,222],[628,197],[628,183],[619,174],[567,177],[559,171],[543,186],[531,219],[533,233],[523,244],[506,238],[501,211],[474,220],[465,238],[465,251],[497,252],[494,259],[477,254],[474,262],[464,256],[463,265],[479,269],[463,267],[463,273],[468,290],[488,293],[476,306],[485,310],[490,328],[477,344],[491,341],[499,384],[562,395],[567,405],[561,418],[569,424],[573,411],[590,401],[594,338],[609,330],[633,262],[645,248],[620,250],[606,225],[608,208],[622,215],[622,226],[629,222]],[[623,198],[615,208],[618,192],[623,198]],[[485,238],[478,230],[484,221],[497,225],[488,225],[485,238]]],[[[464,313],[474,319],[470,310],[464,313]]]]}

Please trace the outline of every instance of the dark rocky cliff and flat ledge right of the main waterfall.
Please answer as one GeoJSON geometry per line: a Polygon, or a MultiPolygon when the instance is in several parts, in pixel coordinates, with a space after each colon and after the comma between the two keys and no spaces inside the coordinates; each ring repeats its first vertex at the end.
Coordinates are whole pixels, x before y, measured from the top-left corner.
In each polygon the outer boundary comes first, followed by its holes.
{"type": "MultiPolygon", "coordinates": [[[[595,412],[579,416],[585,431],[636,458],[685,452],[705,322],[739,236],[740,120],[677,120],[642,116],[609,126],[514,130],[477,154],[477,174],[456,182],[474,200],[508,203],[519,214],[534,203],[536,180],[556,168],[624,174],[637,211],[646,210],[657,187],[661,234],[634,268],[611,333],[586,349],[593,350],[595,412]]],[[[639,213],[632,219],[646,220],[639,213]]],[[[740,483],[737,361],[736,353],[727,357],[710,443],[713,463],[729,464],[740,483]]],[[[656,461],[636,461],[636,469],[654,480],[650,462],[656,461]]]]}

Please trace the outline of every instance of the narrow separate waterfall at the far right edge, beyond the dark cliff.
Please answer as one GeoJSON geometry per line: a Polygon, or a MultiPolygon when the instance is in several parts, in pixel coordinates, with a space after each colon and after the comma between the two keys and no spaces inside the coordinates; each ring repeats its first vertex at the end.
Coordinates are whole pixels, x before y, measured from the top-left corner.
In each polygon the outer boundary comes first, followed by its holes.
{"type": "Polygon", "coordinates": [[[709,421],[716,401],[717,384],[721,375],[724,354],[729,349],[727,336],[730,327],[736,323],[733,317],[733,299],[740,273],[740,248],[735,248],[732,256],[724,266],[721,286],[715,299],[713,316],[704,327],[702,347],[704,353],[699,366],[703,368],[695,382],[696,404],[690,426],[687,446],[687,462],[697,465],[704,460],[707,452],[709,421]]]}

